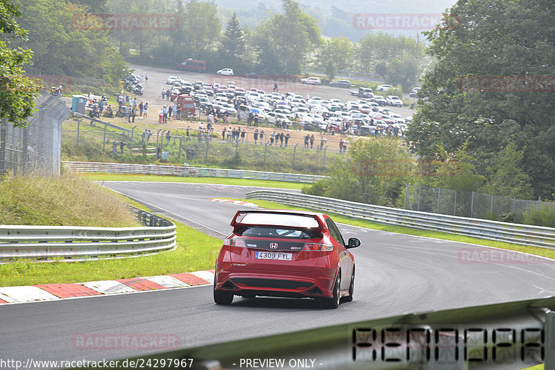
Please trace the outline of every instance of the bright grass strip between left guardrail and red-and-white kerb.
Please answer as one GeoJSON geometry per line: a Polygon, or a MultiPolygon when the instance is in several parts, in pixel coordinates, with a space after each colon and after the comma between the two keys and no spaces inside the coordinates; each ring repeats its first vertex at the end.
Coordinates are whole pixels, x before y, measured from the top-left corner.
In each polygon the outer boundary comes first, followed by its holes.
{"type": "Polygon", "coordinates": [[[66,263],[18,261],[0,265],[0,286],[129,279],[209,270],[221,248],[221,240],[183,224],[177,225],[175,250],[151,256],[66,263]]]}

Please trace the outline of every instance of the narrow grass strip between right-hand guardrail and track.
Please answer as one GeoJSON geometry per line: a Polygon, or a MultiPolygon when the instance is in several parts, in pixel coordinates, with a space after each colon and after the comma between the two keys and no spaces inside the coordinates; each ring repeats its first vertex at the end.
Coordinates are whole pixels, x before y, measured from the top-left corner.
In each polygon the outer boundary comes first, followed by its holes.
{"type": "MultiPolygon", "coordinates": [[[[295,206],[288,206],[285,204],[280,204],[276,202],[268,202],[266,200],[255,200],[255,199],[248,199],[245,200],[247,202],[252,202],[264,208],[269,209],[297,209],[297,210],[307,210],[300,207],[295,206]]],[[[318,211],[315,209],[309,209],[310,211],[318,211]]],[[[351,224],[353,226],[359,227],[366,227],[368,229],[375,229],[375,230],[382,230],[382,231],[390,231],[393,233],[398,234],[407,234],[413,236],[426,236],[428,238],[436,238],[436,239],[443,239],[443,240],[452,240],[455,242],[461,243],[471,243],[477,245],[485,245],[487,247],[495,247],[500,249],[508,249],[517,252],[524,252],[529,254],[536,254],[538,256],[544,256],[548,258],[555,258],[555,250],[548,249],[548,248],[541,248],[541,247],[531,247],[527,245],[518,245],[512,243],[504,243],[504,242],[497,242],[494,240],[486,240],[486,239],[479,239],[479,238],[471,238],[469,236],[460,236],[454,234],[447,234],[438,231],[428,231],[428,230],[420,230],[420,229],[411,229],[410,227],[401,227],[401,226],[393,226],[393,225],[385,225],[385,224],[378,224],[376,222],[371,222],[367,220],[361,220],[358,218],[350,218],[345,215],[341,215],[338,213],[331,213],[326,212],[327,215],[330,215],[334,221],[341,222],[344,224],[351,224]]]]}

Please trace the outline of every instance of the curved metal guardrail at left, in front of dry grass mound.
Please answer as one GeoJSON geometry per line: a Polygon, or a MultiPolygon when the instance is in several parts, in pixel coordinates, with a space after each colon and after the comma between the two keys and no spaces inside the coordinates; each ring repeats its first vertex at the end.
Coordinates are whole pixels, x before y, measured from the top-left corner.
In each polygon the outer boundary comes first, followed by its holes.
{"type": "Polygon", "coordinates": [[[144,227],[0,225],[0,261],[130,256],[176,247],[176,225],[136,209],[144,227]]]}

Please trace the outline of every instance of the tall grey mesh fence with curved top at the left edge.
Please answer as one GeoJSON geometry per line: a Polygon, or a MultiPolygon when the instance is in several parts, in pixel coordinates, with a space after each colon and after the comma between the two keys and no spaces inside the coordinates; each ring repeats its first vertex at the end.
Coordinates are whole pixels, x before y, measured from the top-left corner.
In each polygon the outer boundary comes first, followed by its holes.
{"type": "Polygon", "coordinates": [[[0,175],[60,175],[62,121],[70,110],[55,96],[38,96],[27,127],[0,123],[0,175]]]}

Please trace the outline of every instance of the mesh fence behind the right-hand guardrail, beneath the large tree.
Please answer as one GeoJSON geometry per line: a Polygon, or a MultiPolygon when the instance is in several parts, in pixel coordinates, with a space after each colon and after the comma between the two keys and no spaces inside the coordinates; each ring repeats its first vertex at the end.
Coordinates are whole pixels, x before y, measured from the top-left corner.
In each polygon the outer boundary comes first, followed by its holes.
{"type": "Polygon", "coordinates": [[[520,222],[531,209],[555,212],[555,203],[511,197],[407,185],[404,209],[469,218],[520,222]]]}

